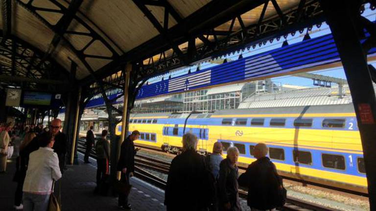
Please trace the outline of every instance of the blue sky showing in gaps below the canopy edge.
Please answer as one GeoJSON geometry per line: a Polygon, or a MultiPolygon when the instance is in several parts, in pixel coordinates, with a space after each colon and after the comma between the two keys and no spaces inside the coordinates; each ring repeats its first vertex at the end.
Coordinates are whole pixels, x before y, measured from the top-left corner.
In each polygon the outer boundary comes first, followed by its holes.
{"type": "MultiPolygon", "coordinates": [[[[362,15],[364,17],[368,18],[371,21],[375,21],[376,11],[371,10],[370,5],[366,4],[365,5],[365,11],[362,15]]],[[[296,34],[294,36],[289,34],[286,38],[287,42],[289,44],[301,42],[304,38],[306,31],[307,31],[307,29],[305,29],[302,34],[300,34],[299,32],[296,32],[296,34]]],[[[329,26],[326,23],[323,23],[320,28],[318,28],[317,26],[313,26],[311,31],[309,31],[309,36],[311,38],[316,38],[316,37],[320,37],[320,36],[323,36],[323,35],[326,35],[326,34],[329,34],[329,33],[331,33],[329,26]]],[[[283,37],[279,41],[274,39],[274,41],[272,43],[267,42],[265,45],[261,45],[261,46],[256,45],[255,49],[253,49],[251,47],[250,50],[245,49],[245,51],[240,51],[239,53],[235,52],[235,53],[232,53],[230,56],[225,55],[225,56],[222,56],[219,59],[221,59],[221,60],[227,59],[228,61],[232,61],[232,60],[237,60],[237,58],[240,54],[242,54],[243,57],[256,55],[256,54],[259,54],[259,53],[262,53],[262,52],[265,52],[265,51],[269,51],[269,50],[281,47],[283,41],[284,41],[283,37]]],[[[374,62],[372,64],[376,65],[376,62],[374,62]]],[[[200,64],[200,69],[209,68],[209,67],[215,66],[215,65],[218,65],[218,63],[204,62],[204,63],[200,64]]],[[[176,77],[176,76],[179,76],[179,75],[187,74],[189,69],[191,70],[191,72],[193,72],[197,69],[197,65],[192,65],[190,67],[182,67],[180,69],[170,71],[168,74],[150,79],[149,83],[160,81],[162,79],[162,77],[164,77],[166,79],[166,78],[168,78],[169,75],[171,75],[172,77],[176,77]]],[[[321,74],[321,75],[325,75],[325,76],[331,76],[331,77],[346,79],[345,72],[344,72],[342,67],[322,69],[322,70],[318,70],[318,71],[313,71],[311,73],[316,73],[316,74],[321,74]]],[[[282,77],[272,78],[272,80],[276,83],[281,83],[281,84],[313,86],[313,81],[311,79],[305,79],[305,78],[301,78],[301,77],[282,76],[282,77]]]]}

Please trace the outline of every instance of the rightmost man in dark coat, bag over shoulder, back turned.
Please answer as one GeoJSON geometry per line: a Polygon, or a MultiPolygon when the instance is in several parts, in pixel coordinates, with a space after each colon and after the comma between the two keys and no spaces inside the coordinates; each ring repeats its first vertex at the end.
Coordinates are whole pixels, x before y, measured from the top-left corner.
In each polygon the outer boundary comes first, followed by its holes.
{"type": "Polygon", "coordinates": [[[251,210],[275,210],[278,206],[276,200],[283,187],[282,178],[278,175],[276,166],[266,157],[267,154],[267,146],[257,144],[254,149],[257,161],[249,165],[238,179],[241,187],[248,188],[247,203],[251,210]]]}

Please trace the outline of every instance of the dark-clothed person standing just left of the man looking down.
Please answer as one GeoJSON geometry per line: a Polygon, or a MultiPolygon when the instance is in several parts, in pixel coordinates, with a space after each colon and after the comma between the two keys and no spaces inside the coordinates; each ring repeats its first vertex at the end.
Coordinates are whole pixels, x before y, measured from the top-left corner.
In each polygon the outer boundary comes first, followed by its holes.
{"type": "Polygon", "coordinates": [[[95,192],[100,191],[105,187],[107,175],[110,174],[109,161],[110,161],[110,143],[107,141],[107,130],[102,130],[102,137],[95,144],[96,152],[96,188],[95,192]]]}

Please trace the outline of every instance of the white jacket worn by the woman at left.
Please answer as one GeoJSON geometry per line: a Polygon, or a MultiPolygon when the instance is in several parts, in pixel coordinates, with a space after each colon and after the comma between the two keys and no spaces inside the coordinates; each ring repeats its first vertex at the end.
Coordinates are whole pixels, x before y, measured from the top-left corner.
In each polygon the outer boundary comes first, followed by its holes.
{"type": "Polygon", "coordinates": [[[30,153],[24,192],[50,194],[53,180],[61,178],[59,158],[52,148],[39,148],[30,153]]]}

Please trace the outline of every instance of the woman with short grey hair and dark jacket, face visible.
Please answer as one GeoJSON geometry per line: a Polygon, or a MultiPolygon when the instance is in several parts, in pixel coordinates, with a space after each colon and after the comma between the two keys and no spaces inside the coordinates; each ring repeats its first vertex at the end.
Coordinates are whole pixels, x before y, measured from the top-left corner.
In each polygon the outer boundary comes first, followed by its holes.
{"type": "Polygon", "coordinates": [[[219,165],[218,208],[219,211],[241,211],[238,194],[236,166],[239,150],[227,148],[227,158],[219,165]]]}

